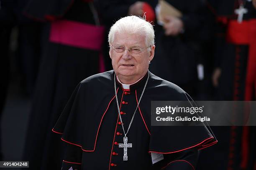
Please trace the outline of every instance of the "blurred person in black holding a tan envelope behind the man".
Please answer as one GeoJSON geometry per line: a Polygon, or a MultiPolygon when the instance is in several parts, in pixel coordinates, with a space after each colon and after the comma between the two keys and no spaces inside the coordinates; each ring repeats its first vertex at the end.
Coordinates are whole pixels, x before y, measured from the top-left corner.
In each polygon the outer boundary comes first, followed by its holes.
{"type": "MultiPolygon", "coordinates": [[[[159,49],[150,68],[156,75],[174,82],[193,98],[197,98],[197,65],[202,62],[202,57],[205,57],[202,54],[202,44],[210,36],[210,32],[207,32],[206,7],[200,0],[166,2],[181,15],[166,14],[161,22],[157,20],[156,46],[159,49]]],[[[203,74],[202,72],[201,68],[200,74],[203,74]]]]}

